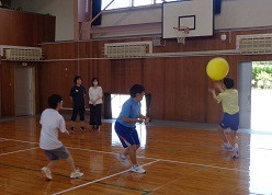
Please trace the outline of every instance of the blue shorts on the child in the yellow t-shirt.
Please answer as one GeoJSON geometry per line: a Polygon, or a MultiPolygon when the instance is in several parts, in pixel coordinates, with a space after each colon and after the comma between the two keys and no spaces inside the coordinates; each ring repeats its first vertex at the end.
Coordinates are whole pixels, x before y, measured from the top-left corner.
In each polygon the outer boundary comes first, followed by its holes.
{"type": "Polygon", "coordinates": [[[224,129],[230,128],[231,130],[238,130],[239,126],[239,113],[228,114],[224,113],[223,119],[219,126],[224,129]]]}

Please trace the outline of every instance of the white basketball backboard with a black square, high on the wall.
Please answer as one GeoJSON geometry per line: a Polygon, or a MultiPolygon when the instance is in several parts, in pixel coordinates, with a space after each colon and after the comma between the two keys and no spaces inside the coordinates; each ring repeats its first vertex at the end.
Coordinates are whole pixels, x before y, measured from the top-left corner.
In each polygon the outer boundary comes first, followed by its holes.
{"type": "Polygon", "coordinates": [[[162,3],[162,37],[175,38],[173,27],[188,26],[186,37],[214,34],[214,0],[183,0],[162,3]]]}

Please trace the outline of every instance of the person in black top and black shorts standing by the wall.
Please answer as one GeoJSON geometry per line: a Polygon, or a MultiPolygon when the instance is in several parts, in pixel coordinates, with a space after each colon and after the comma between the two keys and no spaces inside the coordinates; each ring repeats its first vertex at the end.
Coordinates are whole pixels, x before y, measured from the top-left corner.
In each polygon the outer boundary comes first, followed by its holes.
{"type": "Polygon", "coordinates": [[[71,115],[71,131],[75,131],[75,122],[77,119],[78,113],[81,121],[81,130],[84,128],[84,114],[86,114],[86,88],[81,85],[81,77],[77,76],[73,79],[75,85],[70,90],[70,99],[72,101],[72,115],[71,115]]]}

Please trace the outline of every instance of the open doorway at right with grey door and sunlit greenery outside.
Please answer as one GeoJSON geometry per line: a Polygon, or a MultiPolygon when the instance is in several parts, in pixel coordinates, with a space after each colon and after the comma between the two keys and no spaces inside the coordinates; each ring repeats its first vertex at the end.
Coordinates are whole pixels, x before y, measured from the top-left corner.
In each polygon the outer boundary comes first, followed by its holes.
{"type": "Polygon", "coordinates": [[[272,61],[238,65],[240,128],[271,130],[272,61]]]}

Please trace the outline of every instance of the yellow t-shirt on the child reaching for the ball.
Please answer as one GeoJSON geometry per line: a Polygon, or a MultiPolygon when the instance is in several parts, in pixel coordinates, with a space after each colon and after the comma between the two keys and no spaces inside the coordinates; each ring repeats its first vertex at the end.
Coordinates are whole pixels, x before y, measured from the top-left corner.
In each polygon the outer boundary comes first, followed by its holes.
{"type": "Polygon", "coordinates": [[[236,89],[227,89],[216,96],[218,103],[222,102],[224,113],[236,114],[239,112],[238,91],[236,89]]]}

